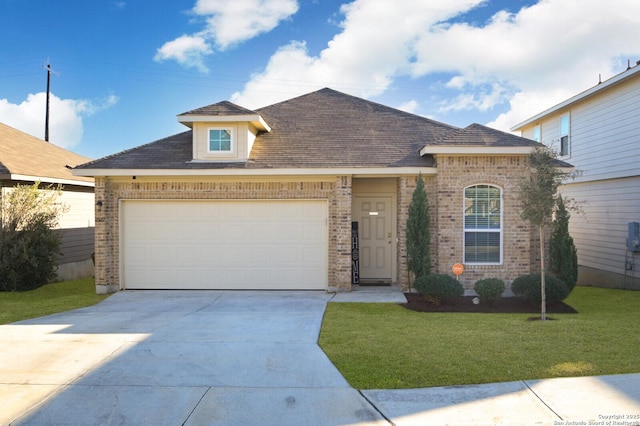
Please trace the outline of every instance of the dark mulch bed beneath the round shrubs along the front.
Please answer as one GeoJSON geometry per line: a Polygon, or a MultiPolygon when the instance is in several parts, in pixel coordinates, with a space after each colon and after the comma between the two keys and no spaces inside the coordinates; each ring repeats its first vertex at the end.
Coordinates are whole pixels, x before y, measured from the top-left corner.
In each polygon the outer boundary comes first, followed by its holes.
{"type": "MultiPolygon", "coordinates": [[[[539,314],[540,306],[535,306],[521,297],[503,297],[495,305],[480,302],[475,305],[473,296],[450,297],[440,305],[434,305],[420,293],[405,293],[407,303],[400,303],[407,309],[418,312],[485,312],[505,314],[539,314]]],[[[563,302],[547,303],[547,313],[577,314],[578,311],[563,302]]]]}

